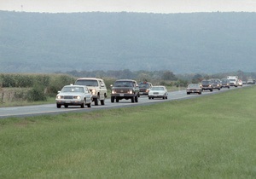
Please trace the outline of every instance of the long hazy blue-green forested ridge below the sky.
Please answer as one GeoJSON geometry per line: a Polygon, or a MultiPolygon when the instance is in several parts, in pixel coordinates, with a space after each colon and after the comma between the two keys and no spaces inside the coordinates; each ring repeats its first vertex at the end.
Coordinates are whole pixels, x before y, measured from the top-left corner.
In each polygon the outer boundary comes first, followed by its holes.
{"type": "Polygon", "coordinates": [[[0,11],[0,72],[255,72],[255,13],[0,11]]]}

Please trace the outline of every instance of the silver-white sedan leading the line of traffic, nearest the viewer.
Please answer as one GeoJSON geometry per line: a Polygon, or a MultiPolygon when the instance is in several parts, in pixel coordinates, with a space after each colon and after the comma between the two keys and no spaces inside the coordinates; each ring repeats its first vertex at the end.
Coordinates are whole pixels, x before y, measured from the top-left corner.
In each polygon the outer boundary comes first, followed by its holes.
{"type": "Polygon", "coordinates": [[[90,107],[91,105],[91,94],[90,90],[83,85],[66,85],[56,95],[56,107],[61,108],[68,106],[85,106],[90,107]]]}

